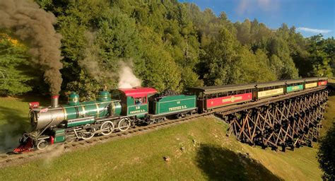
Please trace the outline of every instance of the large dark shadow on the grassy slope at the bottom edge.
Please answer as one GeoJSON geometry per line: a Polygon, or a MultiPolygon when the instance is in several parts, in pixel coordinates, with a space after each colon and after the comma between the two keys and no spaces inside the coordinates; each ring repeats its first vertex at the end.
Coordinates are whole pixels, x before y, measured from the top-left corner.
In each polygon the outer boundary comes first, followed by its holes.
{"type": "Polygon", "coordinates": [[[196,163],[208,180],[283,180],[248,154],[215,145],[201,144],[196,163]]]}

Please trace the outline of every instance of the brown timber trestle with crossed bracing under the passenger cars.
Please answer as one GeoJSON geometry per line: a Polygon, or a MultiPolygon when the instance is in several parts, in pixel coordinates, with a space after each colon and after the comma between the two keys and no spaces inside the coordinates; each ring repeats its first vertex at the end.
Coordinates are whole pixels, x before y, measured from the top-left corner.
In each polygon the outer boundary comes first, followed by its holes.
{"type": "Polygon", "coordinates": [[[234,134],[247,144],[275,149],[282,146],[284,150],[287,146],[312,146],[312,141],[319,136],[327,98],[328,92],[322,90],[223,115],[223,118],[229,123],[228,135],[234,134]]]}

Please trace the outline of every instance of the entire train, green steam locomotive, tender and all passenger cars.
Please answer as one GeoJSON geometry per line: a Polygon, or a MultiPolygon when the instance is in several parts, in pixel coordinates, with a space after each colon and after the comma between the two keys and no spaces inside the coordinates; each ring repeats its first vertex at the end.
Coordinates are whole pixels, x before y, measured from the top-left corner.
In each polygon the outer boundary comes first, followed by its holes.
{"type": "Polygon", "coordinates": [[[154,88],[119,88],[100,91],[94,101],[79,102],[75,92],[66,105],[52,96],[49,107],[29,103],[32,132],[25,133],[15,153],[43,150],[50,144],[91,139],[95,135],[124,132],[129,127],[187,117],[228,105],[244,104],[278,95],[327,86],[327,77],[267,83],[188,88],[186,94],[162,95],[154,88]]]}

